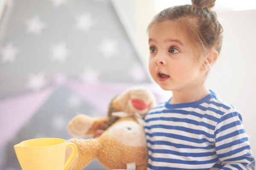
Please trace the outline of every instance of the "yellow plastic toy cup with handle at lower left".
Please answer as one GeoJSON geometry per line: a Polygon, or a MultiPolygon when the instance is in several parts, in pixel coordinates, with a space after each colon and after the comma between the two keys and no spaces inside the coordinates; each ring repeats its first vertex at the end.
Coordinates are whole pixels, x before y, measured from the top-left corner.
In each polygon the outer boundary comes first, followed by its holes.
{"type": "Polygon", "coordinates": [[[75,144],[58,138],[30,139],[14,149],[23,170],[67,170],[77,153],[75,144]],[[72,147],[72,153],[64,164],[67,147],[72,147]]]}

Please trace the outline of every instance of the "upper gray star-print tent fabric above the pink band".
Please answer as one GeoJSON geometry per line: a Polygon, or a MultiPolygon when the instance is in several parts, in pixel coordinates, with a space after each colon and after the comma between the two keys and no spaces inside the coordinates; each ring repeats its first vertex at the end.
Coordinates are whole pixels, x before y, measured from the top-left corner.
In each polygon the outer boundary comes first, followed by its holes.
{"type": "Polygon", "coordinates": [[[0,99],[41,89],[58,73],[85,82],[150,82],[110,1],[54,1],[64,0],[13,1],[0,41],[0,99]]]}

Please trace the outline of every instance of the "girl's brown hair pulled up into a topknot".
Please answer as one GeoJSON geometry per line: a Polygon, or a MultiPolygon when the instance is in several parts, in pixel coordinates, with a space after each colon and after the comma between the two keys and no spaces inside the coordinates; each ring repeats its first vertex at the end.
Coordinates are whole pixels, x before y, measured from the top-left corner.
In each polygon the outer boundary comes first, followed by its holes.
{"type": "MultiPolygon", "coordinates": [[[[157,14],[148,25],[168,20],[177,22],[184,31],[189,45],[193,49],[196,59],[203,62],[209,50],[221,51],[223,28],[217,20],[215,11],[210,9],[215,0],[192,0],[195,5],[181,5],[166,8],[157,14]]],[[[183,33],[183,34],[184,34],[183,33]]],[[[200,62],[198,62],[200,64],[200,62]]]]}

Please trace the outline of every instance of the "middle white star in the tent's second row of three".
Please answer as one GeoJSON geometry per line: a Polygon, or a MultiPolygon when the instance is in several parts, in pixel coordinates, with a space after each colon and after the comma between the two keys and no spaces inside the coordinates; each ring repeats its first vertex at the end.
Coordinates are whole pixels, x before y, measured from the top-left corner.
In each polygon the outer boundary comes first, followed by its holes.
{"type": "Polygon", "coordinates": [[[52,45],[50,50],[52,61],[65,62],[67,56],[70,55],[70,50],[67,48],[66,42],[59,42],[58,44],[52,45]]]}

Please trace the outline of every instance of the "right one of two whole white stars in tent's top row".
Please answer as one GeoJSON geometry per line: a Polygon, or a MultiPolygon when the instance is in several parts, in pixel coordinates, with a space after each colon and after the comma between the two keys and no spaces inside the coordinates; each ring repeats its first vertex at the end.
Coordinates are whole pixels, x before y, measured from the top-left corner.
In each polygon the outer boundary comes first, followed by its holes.
{"type": "Polygon", "coordinates": [[[81,14],[76,17],[76,29],[87,32],[90,30],[92,26],[94,26],[95,22],[91,17],[91,14],[81,14]]]}

